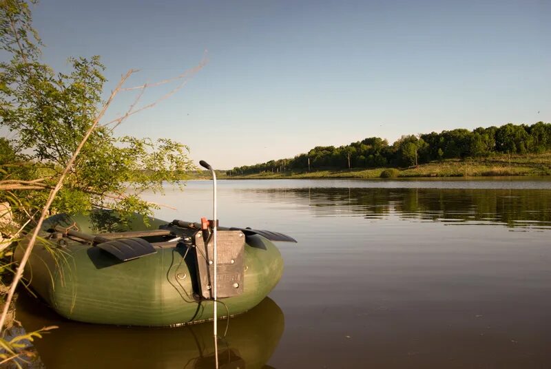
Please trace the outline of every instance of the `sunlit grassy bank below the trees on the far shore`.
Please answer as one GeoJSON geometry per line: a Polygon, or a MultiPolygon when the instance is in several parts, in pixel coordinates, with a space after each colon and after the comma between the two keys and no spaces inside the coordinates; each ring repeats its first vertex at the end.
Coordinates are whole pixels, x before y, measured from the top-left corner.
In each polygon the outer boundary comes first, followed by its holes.
{"type": "MultiPolygon", "coordinates": [[[[380,178],[389,168],[324,169],[316,171],[262,172],[227,178],[380,178]]],[[[429,162],[418,167],[399,168],[393,177],[477,177],[477,176],[551,176],[551,151],[544,154],[494,155],[465,160],[448,159],[429,162]]]]}

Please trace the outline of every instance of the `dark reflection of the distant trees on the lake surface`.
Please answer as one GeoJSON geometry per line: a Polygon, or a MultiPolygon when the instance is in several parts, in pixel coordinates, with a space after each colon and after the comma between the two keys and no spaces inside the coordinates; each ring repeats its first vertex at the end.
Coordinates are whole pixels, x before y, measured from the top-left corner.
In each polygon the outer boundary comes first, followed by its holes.
{"type": "Polygon", "coordinates": [[[551,229],[549,189],[255,189],[275,201],[298,203],[314,216],[362,216],[452,224],[503,224],[551,229]]]}

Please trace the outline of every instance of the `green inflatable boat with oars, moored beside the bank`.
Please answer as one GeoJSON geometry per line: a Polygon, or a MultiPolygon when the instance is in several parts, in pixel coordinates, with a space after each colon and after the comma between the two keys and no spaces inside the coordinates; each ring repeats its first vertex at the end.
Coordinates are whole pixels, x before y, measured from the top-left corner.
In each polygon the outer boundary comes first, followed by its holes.
{"type": "MultiPolygon", "coordinates": [[[[213,319],[212,221],[165,222],[112,211],[45,220],[25,277],[59,315],[124,326],[178,326],[213,319]]],[[[245,313],[283,271],[271,241],[282,233],[218,227],[218,317],[245,313]]],[[[15,253],[20,260],[21,242],[15,253]]]]}

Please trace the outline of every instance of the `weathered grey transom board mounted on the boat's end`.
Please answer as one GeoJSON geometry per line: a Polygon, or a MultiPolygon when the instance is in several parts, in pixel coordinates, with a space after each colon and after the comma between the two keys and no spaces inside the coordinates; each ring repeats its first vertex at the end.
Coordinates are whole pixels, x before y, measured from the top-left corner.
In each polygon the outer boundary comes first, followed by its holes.
{"type": "MultiPolygon", "coordinates": [[[[214,238],[209,238],[205,247],[202,233],[194,236],[196,247],[199,289],[202,297],[212,299],[214,290],[214,238]]],[[[217,231],[218,249],[218,298],[237,296],[243,293],[245,273],[245,235],[241,231],[217,231]]]]}

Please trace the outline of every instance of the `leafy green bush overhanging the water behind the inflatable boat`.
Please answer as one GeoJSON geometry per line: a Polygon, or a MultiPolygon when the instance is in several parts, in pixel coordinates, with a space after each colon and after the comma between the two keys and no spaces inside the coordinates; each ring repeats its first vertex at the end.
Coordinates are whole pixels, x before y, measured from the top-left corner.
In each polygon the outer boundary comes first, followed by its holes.
{"type": "MultiPolygon", "coordinates": [[[[18,222],[45,197],[103,105],[104,66],[98,56],[70,58],[69,73],[41,63],[41,41],[32,29],[28,3],[0,2],[0,127],[13,138],[0,140],[0,202],[8,201],[18,222]],[[32,184],[30,184],[32,181],[32,184]],[[23,208],[23,209],[22,209],[23,208]],[[24,210],[24,211],[23,211],[24,210]]],[[[143,191],[162,191],[193,169],[187,147],[170,139],[116,137],[98,125],[72,166],[53,212],[107,207],[151,213],[143,191]]]]}

